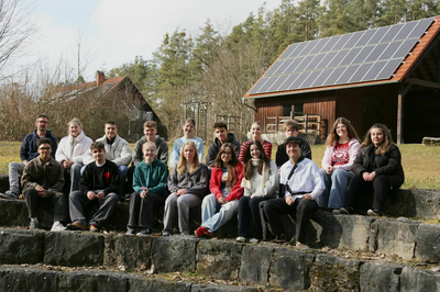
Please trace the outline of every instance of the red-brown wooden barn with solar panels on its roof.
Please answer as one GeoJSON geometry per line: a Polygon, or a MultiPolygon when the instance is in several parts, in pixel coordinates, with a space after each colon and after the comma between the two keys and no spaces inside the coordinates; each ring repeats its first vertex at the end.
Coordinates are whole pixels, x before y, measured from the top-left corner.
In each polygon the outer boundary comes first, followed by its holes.
{"type": "Polygon", "coordinates": [[[302,126],[312,116],[309,127],[324,138],[344,116],[361,137],[374,123],[386,124],[397,143],[439,136],[439,20],[292,44],[243,102],[254,100],[254,120],[266,132],[289,116],[302,126]]]}

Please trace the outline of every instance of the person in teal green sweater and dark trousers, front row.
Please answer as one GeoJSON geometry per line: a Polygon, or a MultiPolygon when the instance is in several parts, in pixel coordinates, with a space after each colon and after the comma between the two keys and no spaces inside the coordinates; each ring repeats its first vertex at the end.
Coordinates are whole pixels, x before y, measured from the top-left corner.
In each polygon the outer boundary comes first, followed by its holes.
{"type": "Polygon", "coordinates": [[[134,235],[134,228],[141,227],[136,235],[152,233],[153,210],[165,204],[167,192],[167,169],[164,162],[156,159],[156,144],[146,142],[142,146],[144,160],[136,166],[133,176],[134,192],[130,198],[130,215],[127,235],[134,235]]]}

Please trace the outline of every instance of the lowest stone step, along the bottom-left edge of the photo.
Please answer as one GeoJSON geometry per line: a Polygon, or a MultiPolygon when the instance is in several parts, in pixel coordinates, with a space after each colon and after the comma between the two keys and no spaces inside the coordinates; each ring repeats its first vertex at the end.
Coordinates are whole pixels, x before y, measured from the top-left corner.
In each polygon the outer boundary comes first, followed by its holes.
{"type": "Polygon", "coordinates": [[[0,291],[239,292],[261,289],[177,281],[99,269],[63,271],[4,265],[0,266],[0,291]]]}

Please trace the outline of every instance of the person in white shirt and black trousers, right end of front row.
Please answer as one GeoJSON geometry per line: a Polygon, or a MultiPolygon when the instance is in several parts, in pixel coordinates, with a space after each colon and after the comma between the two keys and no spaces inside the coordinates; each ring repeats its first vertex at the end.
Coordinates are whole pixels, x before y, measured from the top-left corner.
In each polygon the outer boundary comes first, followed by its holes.
{"type": "Polygon", "coordinates": [[[288,137],[285,142],[289,160],[280,168],[279,183],[285,190],[279,199],[273,199],[264,204],[264,214],[271,224],[274,242],[282,242],[283,224],[279,214],[296,214],[296,246],[306,246],[306,229],[311,214],[318,207],[318,198],[324,190],[318,166],[301,156],[301,141],[288,137]]]}

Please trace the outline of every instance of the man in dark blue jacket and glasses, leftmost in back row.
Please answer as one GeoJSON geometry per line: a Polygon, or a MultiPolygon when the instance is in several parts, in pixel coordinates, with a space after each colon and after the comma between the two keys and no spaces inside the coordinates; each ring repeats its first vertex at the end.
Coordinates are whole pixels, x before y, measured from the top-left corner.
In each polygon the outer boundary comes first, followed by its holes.
{"type": "Polygon", "coordinates": [[[31,134],[28,134],[20,148],[20,158],[22,162],[9,164],[9,191],[0,193],[0,198],[3,199],[19,199],[20,194],[20,176],[23,175],[23,169],[29,161],[38,156],[38,147],[36,142],[46,137],[52,141],[52,153],[51,156],[55,158],[57,148],[56,138],[52,136],[52,132],[48,128],[48,117],[44,113],[36,116],[35,120],[36,130],[31,134]]]}

